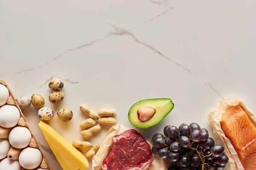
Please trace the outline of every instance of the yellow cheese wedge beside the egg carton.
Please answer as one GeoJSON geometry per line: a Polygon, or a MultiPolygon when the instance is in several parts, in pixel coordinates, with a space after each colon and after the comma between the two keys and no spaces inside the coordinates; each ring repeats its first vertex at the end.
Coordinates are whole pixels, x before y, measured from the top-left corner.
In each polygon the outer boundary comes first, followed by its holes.
{"type": "Polygon", "coordinates": [[[87,170],[89,163],[79,150],[50,125],[42,121],[38,125],[63,170],[87,170]]]}

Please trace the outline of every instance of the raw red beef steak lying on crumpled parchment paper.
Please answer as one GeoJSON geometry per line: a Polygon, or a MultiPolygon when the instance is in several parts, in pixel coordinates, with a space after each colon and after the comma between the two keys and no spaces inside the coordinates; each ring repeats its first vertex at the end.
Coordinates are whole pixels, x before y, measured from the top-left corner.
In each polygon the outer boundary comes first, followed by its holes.
{"type": "Polygon", "coordinates": [[[102,163],[102,170],[148,170],[153,161],[146,139],[134,129],[113,137],[113,146],[102,163]]]}

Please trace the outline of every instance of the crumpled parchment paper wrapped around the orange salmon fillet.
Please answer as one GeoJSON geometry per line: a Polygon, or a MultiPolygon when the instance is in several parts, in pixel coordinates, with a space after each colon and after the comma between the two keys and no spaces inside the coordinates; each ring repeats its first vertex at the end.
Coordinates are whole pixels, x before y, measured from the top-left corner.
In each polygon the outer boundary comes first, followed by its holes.
{"type": "Polygon", "coordinates": [[[226,165],[225,170],[244,170],[239,157],[234,149],[230,140],[226,138],[223,130],[221,129],[222,114],[233,106],[239,105],[250,118],[253,125],[256,125],[256,117],[254,113],[242,102],[239,97],[224,99],[215,107],[215,109],[209,113],[208,120],[213,128],[213,133],[216,142],[222,144],[225,147],[225,154],[229,157],[229,163],[226,165]]]}

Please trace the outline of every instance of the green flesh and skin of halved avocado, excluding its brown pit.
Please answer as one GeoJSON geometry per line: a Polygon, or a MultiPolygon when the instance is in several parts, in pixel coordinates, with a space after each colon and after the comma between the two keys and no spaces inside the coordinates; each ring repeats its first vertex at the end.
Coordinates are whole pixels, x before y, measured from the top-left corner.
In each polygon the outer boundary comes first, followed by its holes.
{"type": "Polygon", "coordinates": [[[171,99],[163,98],[141,100],[140,102],[137,102],[131,106],[128,113],[128,119],[135,127],[146,129],[161,122],[161,120],[163,120],[165,116],[172,111],[173,107],[174,103],[171,99]],[[153,108],[155,110],[154,115],[146,121],[141,121],[139,119],[140,115],[138,110],[143,107],[153,108]]]}

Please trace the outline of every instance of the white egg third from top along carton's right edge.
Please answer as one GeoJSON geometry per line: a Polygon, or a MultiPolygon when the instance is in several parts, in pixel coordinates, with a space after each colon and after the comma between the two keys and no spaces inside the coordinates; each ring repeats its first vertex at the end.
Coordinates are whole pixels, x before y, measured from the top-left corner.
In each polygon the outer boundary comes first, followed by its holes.
{"type": "Polygon", "coordinates": [[[28,146],[31,139],[32,135],[29,129],[22,126],[13,128],[9,134],[10,144],[17,149],[22,149],[28,146]]]}

